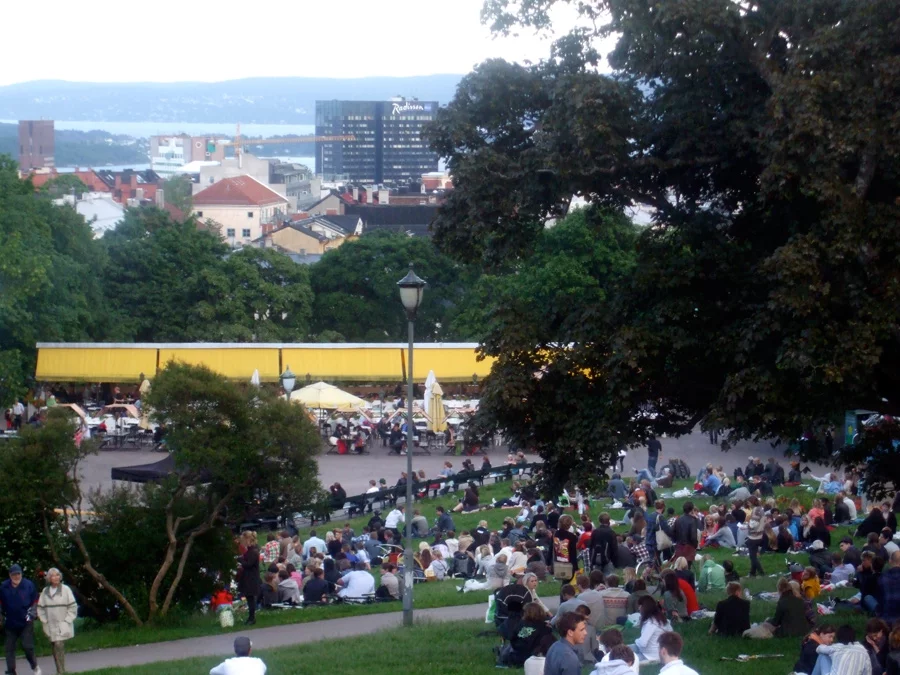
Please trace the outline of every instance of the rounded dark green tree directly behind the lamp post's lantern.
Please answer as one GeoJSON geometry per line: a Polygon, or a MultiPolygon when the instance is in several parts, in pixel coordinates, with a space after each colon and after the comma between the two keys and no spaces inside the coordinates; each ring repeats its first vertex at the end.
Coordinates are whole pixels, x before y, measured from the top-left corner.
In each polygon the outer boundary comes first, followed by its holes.
{"type": "Polygon", "coordinates": [[[397,282],[409,263],[428,281],[416,320],[422,340],[442,340],[474,278],[441,255],[428,239],[375,232],[328,251],[311,267],[315,295],[312,332],[334,331],[349,342],[406,339],[406,319],[397,282]]]}

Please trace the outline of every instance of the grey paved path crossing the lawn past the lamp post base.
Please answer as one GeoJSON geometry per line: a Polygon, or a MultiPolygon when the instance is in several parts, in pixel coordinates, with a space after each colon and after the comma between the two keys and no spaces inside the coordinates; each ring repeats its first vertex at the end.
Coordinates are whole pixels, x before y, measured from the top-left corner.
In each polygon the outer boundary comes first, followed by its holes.
{"type": "MultiPolygon", "coordinates": [[[[551,610],[559,604],[558,598],[542,598],[551,610]]],[[[457,607],[439,607],[436,609],[419,609],[415,611],[416,621],[465,621],[471,619],[484,620],[486,603],[477,605],[461,605],[457,607]]],[[[352,637],[367,635],[386,628],[395,628],[403,624],[403,612],[387,614],[366,614],[349,616],[340,619],[326,619],[310,623],[273,626],[241,631],[253,641],[253,650],[271,649],[273,647],[290,647],[307,642],[332,639],[335,637],[352,637]]],[[[101,668],[139,666],[145,663],[160,661],[180,661],[196,656],[221,656],[226,658],[234,651],[234,638],[238,633],[223,633],[186,640],[156,642],[133,647],[116,647],[115,649],[98,649],[90,652],[74,652],[66,654],[66,672],[84,673],[101,668]]],[[[76,637],[77,639],[77,637],[76,637]]],[[[38,663],[44,673],[55,673],[53,658],[41,657],[38,663]]],[[[17,665],[20,673],[30,673],[31,668],[24,659],[17,665]]]]}

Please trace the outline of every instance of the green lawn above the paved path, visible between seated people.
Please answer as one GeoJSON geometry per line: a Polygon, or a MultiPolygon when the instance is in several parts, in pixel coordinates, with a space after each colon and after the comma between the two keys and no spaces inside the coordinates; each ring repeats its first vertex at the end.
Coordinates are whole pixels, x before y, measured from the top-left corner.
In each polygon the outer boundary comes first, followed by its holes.
{"type": "MultiPolygon", "coordinates": [[[[683,482],[681,485],[678,485],[676,487],[680,487],[686,484],[687,482],[683,482]]],[[[491,497],[500,499],[508,495],[510,493],[510,485],[511,484],[509,482],[501,482],[496,485],[486,485],[481,491],[482,501],[490,503],[491,497]]],[[[662,492],[663,491],[661,490],[660,493],[662,492]]],[[[812,500],[812,494],[806,492],[803,489],[800,489],[799,491],[796,488],[781,489],[777,491],[777,494],[782,498],[787,498],[788,501],[794,496],[798,496],[801,501],[807,504],[812,500]]],[[[425,500],[423,502],[417,503],[416,508],[421,509],[422,513],[426,515],[426,517],[428,517],[429,521],[432,521],[435,514],[434,509],[438,504],[449,507],[455,504],[457,502],[457,499],[458,497],[456,495],[447,495],[444,497],[439,497],[438,499],[425,500]]],[[[666,503],[667,505],[673,506],[676,511],[680,513],[681,504],[684,501],[684,499],[671,499],[666,500],[666,503]]],[[[710,503],[710,500],[695,500],[695,503],[698,503],[701,509],[705,510],[705,508],[710,503]]],[[[604,508],[602,504],[593,505],[591,514],[594,517],[595,521],[597,515],[603,510],[604,508]]],[[[477,526],[478,521],[482,519],[487,520],[489,526],[492,529],[496,529],[500,527],[503,518],[507,516],[514,516],[515,513],[516,511],[514,510],[489,509],[471,514],[453,514],[453,517],[456,523],[457,531],[461,531],[464,529],[473,529],[477,526]]],[[[621,520],[624,515],[624,510],[610,511],[610,515],[614,519],[621,520]]],[[[364,517],[355,518],[350,521],[351,526],[354,528],[357,534],[362,531],[362,527],[368,522],[368,519],[369,515],[367,514],[364,517]]],[[[327,527],[333,528],[342,526],[344,522],[344,520],[333,520],[327,525],[318,526],[316,529],[319,533],[324,533],[327,527]]],[[[617,529],[623,530],[624,528],[619,527],[617,529]]],[[[308,535],[308,531],[309,529],[306,529],[305,531],[301,532],[301,539],[305,538],[308,535]]],[[[843,536],[847,531],[848,528],[840,528],[839,530],[836,530],[832,533],[834,547],[837,546],[837,542],[840,540],[840,537],[843,536]]],[[[742,577],[749,571],[750,563],[749,559],[746,557],[731,557],[731,552],[725,549],[715,549],[711,551],[711,554],[718,561],[724,560],[726,558],[731,558],[731,560],[733,560],[735,564],[736,570],[742,577]]],[[[806,562],[805,555],[791,556],[791,558],[792,561],[800,562],[801,564],[805,564],[806,562]]],[[[783,574],[786,571],[785,556],[783,555],[765,555],[762,557],[762,564],[768,574],[783,574]]],[[[749,583],[747,585],[750,588],[751,592],[756,593],[763,590],[774,590],[776,581],[777,580],[774,578],[748,580],[749,583]]],[[[453,580],[445,582],[417,584],[415,590],[415,607],[419,609],[425,609],[434,607],[448,607],[453,605],[486,603],[488,595],[486,591],[466,594],[457,593],[456,586],[458,583],[461,582],[458,580],[453,580]]],[[[550,597],[556,595],[558,593],[558,589],[559,584],[557,582],[547,581],[541,584],[539,593],[542,597],[550,597]]],[[[722,598],[716,595],[707,597],[701,594],[700,596],[700,602],[706,604],[711,608],[714,608],[715,603],[720,599],[722,598]]],[[[330,607],[305,609],[302,611],[287,610],[259,612],[257,614],[257,628],[264,628],[266,626],[275,626],[288,623],[305,623],[309,621],[317,621],[326,618],[339,618],[349,615],[394,612],[399,610],[400,603],[379,603],[363,606],[337,605],[330,607]]],[[[768,615],[767,612],[770,613],[773,610],[774,605],[770,606],[768,605],[768,603],[757,603],[755,601],[753,620],[756,621],[764,619],[768,615]],[[756,605],[759,606],[757,607],[756,605]],[[757,614],[761,614],[761,616],[757,616],[757,614]]],[[[689,625],[686,629],[688,634],[693,634],[693,632],[697,630],[699,629],[693,625],[689,625]]],[[[703,637],[706,640],[711,639],[705,635],[705,633],[703,632],[705,630],[706,628],[703,628],[700,631],[702,635],[698,634],[697,639],[699,639],[700,637],[703,637]]],[[[240,626],[230,629],[229,632],[239,631],[240,626]]],[[[142,628],[137,628],[126,621],[121,621],[118,624],[108,624],[103,626],[97,626],[96,624],[85,624],[77,627],[76,638],[70,641],[67,644],[66,648],[68,651],[86,651],[107,647],[122,647],[132,644],[148,644],[166,640],[199,637],[203,635],[217,634],[220,632],[223,632],[223,629],[219,627],[214,617],[200,615],[199,613],[190,615],[185,614],[179,617],[173,617],[159,625],[142,628]]],[[[49,644],[46,643],[46,641],[43,639],[41,631],[37,631],[37,633],[39,634],[37,645],[38,653],[49,654],[49,644]]],[[[715,640],[714,642],[719,643],[719,640],[715,640]]],[[[771,651],[770,645],[775,644],[777,644],[777,641],[766,641],[765,644],[760,643],[760,648],[762,649],[764,647],[766,651],[771,651]]],[[[783,650],[779,649],[779,651],[783,650]]],[[[725,652],[723,652],[723,654],[724,653],[725,652]]],[[[741,652],[737,651],[735,653],[741,652]]],[[[793,651],[791,651],[790,653],[793,655],[793,651]]],[[[746,668],[748,666],[740,665],[735,667],[746,668]]],[[[492,663],[491,668],[493,668],[492,663]]]]}

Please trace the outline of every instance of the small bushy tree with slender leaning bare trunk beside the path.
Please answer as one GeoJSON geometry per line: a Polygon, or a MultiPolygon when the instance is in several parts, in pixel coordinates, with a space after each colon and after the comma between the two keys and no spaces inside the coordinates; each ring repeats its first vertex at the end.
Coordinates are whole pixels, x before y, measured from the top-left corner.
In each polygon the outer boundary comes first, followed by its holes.
{"type": "Polygon", "coordinates": [[[315,456],[321,440],[302,406],[265,390],[240,387],[203,367],[167,365],[153,381],[147,405],[168,425],[167,443],[177,468],[176,476],[160,485],[168,497],[168,543],[150,586],[152,620],[171,608],[197,539],[215,528],[247,491],[275,495],[285,508],[303,508],[317,497],[315,456]],[[176,512],[188,493],[205,504],[201,516],[176,512]],[[175,575],[160,604],[173,566],[175,575]]]}

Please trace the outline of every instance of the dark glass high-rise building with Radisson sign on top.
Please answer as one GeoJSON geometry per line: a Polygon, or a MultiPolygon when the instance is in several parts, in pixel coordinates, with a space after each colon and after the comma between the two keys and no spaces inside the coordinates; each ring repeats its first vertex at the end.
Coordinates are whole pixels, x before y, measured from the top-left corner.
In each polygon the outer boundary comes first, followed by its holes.
{"type": "Polygon", "coordinates": [[[402,185],[436,171],[438,156],[422,138],[437,101],[316,101],[316,136],[355,141],[316,143],[316,173],[326,181],[402,185]]]}

